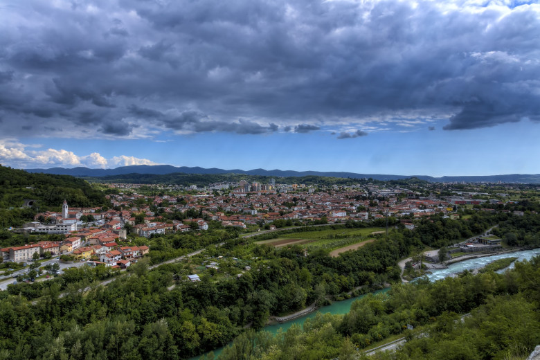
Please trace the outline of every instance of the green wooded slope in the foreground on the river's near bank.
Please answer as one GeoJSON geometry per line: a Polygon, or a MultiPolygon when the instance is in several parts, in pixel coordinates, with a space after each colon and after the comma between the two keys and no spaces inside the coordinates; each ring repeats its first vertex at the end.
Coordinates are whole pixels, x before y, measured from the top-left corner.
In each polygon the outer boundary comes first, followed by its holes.
{"type": "Polygon", "coordinates": [[[524,360],[540,343],[539,279],[537,256],[504,274],[394,285],[345,316],[318,314],[275,337],[246,332],[219,359],[524,360]],[[368,357],[357,350],[396,335],[408,339],[401,351],[368,357]]]}

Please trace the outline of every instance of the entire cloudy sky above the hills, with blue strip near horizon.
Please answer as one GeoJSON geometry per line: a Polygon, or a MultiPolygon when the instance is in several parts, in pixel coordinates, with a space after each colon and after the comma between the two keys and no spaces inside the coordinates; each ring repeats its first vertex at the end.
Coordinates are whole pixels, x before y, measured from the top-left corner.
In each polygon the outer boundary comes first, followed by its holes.
{"type": "Polygon", "coordinates": [[[540,4],[1,0],[0,163],[540,173],[540,4]]]}

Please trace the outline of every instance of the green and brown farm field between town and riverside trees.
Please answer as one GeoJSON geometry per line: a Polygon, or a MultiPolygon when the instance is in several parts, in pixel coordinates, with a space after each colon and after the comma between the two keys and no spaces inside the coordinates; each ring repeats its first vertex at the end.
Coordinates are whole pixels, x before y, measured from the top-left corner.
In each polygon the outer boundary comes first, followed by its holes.
{"type": "Polygon", "coordinates": [[[325,249],[335,251],[343,249],[339,251],[341,253],[358,249],[363,244],[372,242],[375,239],[367,239],[366,237],[379,233],[384,233],[384,228],[327,229],[324,231],[287,234],[287,237],[262,240],[255,242],[255,244],[268,244],[275,247],[303,244],[308,250],[325,249]]]}

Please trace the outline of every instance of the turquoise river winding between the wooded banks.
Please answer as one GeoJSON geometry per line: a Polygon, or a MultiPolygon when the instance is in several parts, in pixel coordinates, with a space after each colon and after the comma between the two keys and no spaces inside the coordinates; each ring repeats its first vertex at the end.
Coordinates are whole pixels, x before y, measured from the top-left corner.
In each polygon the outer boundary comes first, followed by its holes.
{"type": "MultiPolygon", "coordinates": [[[[448,276],[451,276],[455,273],[460,273],[462,271],[468,270],[474,270],[474,269],[480,269],[481,267],[485,267],[490,262],[493,262],[498,259],[503,258],[518,258],[516,261],[522,261],[522,260],[529,260],[534,255],[540,255],[540,249],[532,249],[532,250],[524,250],[524,251],[516,251],[514,253],[503,253],[498,255],[491,255],[491,256],[485,256],[484,258],[476,258],[476,259],[469,259],[464,260],[462,262],[456,262],[454,264],[449,265],[447,269],[432,269],[432,273],[427,274],[429,280],[436,281],[441,280],[444,278],[447,278],[448,276]]],[[[514,267],[514,262],[510,265],[510,268],[514,267]]],[[[505,269],[501,270],[505,271],[505,269]]],[[[381,292],[386,292],[390,288],[381,289],[374,291],[370,294],[379,294],[381,292]]],[[[316,312],[322,312],[322,313],[328,313],[330,314],[347,314],[350,311],[350,307],[354,300],[358,300],[360,298],[363,298],[367,294],[363,294],[361,296],[357,296],[355,298],[350,298],[343,301],[334,301],[331,305],[320,307],[316,310],[316,312]]],[[[304,321],[306,321],[307,318],[313,318],[316,314],[316,312],[311,312],[309,314],[306,314],[304,316],[300,316],[299,318],[295,318],[294,320],[287,321],[285,323],[278,323],[276,325],[267,325],[262,330],[271,332],[272,334],[277,334],[278,330],[282,329],[284,332],[289,329],[294,324],[303,325],[304,321]]],[[[223,348],[218,348],[214,350],[214,355],[217,357],[217,355],[221,354],[223,348]]],[[[192,357],[190,360],[197,360],[202,355],[198,357],[192,357]]]]}

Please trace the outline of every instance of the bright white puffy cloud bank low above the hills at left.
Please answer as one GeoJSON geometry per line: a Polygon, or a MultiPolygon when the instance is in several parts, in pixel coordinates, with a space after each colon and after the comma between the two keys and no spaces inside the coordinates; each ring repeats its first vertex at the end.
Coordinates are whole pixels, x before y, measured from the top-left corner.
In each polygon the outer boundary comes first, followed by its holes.
{"type": "Polygon", "coordinates": [[[0,164],[14,168],[42,168],[60,166],[73,168],[74,166],[87,166],[88,168],[114,168],[128,165],[158,165],[149,159],[139,159],[135,156],[114,156],[106,159],[98,152],[89,155],[78,156],[68,150],[26,150],[36,148],[39,145],[23,144],[6,138],[0,139],[0,164]]]}

